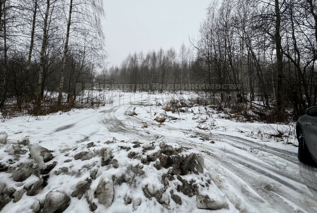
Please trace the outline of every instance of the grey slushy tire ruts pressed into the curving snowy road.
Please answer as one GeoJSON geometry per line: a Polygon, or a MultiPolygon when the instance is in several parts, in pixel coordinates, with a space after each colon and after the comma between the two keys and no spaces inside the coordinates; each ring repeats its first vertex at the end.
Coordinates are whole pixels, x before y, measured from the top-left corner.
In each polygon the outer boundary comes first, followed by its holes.
{"type": "MultiPolygon", "coordinates": [[[[149,100],[138,100],[137,104],[129,106],[125,110],[125,118],[127,121],[133,122],[135,125],[143,126],[142,121],[146,119],[141,119],[138,115],[130,116],[131,114],[135,113],[135,108],[138,105],[143,105],[143,103],[149,102],[149,100]],[[134,109],[133,109],[134,108],[134,109]],[[134,112],[134,113],[133,113],[134,112]]],[[[263,159],[258,158],[258,156],[254,156],[258,160],[261,160],[261,162],[257,162],[255,160],[251,160],[247,157],[242,156],[241,154],[237,154],[237,150],[235,152],[230,152],[228,150],[222,150],[221,148],[217,146],[212,145],[206,145],[202,143],[199,139],[196,138],[189,138],[184,132],[188,132],[188,129],[183,129],[178,126],[171,126],[171,125],[161,125],[159,128],[159,131],[154,130],[152,128],[148,128],[146,133],[145,131],[136,131],[135,129],[129,129],[126,126],[124,126],[121,121],[116,117],[115,113],[120,108],[120,106],[112,107],[111,109],[104,112],[108,115],[103,115],[104,118],[102,119],[103,122],[107,128],[109,128],[110,131],[113,132],[126,132],[129,133],[136,138],[144,139],[144,140],[151,140],[153,139],[153,135],[159,135],[160,137],[163,136],[164,139],[166,139],[167,142],[175,142],[180,145],[186,145],[191,148],[202,150],[203,153],[205,153],[205,159],[210,161],[211,163],[216,161],[219,165],[221,165],[225,169],[229,169],[231,172],[233,172],[237,177],[239,177],[241,180],[247,180],[248,185],[251,186],[252,189],[259,192],[264,196],[265,194],[270,193],[270,191],[267,191],[263,189],[263,186],[265,184],[268,184],[270,182],[276,182],[281,184],[283,187],[286,187],[292,191],[294,191],[294,194],[300,194],[304,197],[307,197],[309,200],[308,202],[314,203],[312,206],[313,208],[316,208],[316,202],[314,202],[316,197],[316,178],[313,178],[316,174],[316,169],[310,166],[305,166],[299,161],[297,161],[296,158],[293,156],[290,156],[287,151],[273,148],[273,147],[264,147],[261,146],[261,143],[258,143],[256,141],[250,141],[247,139],[243,139],[237,136],[230,136],[230,135],[224,135],[224,134],[206,134],[205,132],[199,131],[200,134],[204,136],[208,136],[211,138],[214,138],[215,141],[218,143],[226,143],[230,146],[232,146],[235,149],[238,149],[239,152],[248,152],[249,149],[257,149],[262,152],[269,153],[273,156],[276,156],[277,158],[281,158],[283,161],[289,162],[292,165],[297,165],[300,168],[300,172],[298,176],[296,175],[288,175],[287,172],[283,174],[282,170],[278,170],[278,168],[275,168],[274,165],[271,165],[270,162],[265,161],[263,159]],[[161,132],[164,131],[164,132],[161,132]],[[181,132],[181,137],[175,137],[176,132],[181,132]],[[167,137],[168,135],[168,137],[167,137]],[[181,140],[184,139],[184,140],[181,140]],[[188,142],[189,141],[189,142],[188,142]],[[214,152],[214,153],[212,153],[214,152]],[[215,154],[217,153],[217,154],[215,154]],[[249,171],[247,173],[244,173],[242,171],[249,171]],[[252,175],[253,174],[253,175],[252,175]],[[252,176],[258,176],[262,177],[262,180],[254,180],[252,176]],[[307,194],[307,192],[304,189],[301,189],[301,185],[307,186],[308,189],[310,189],[311,193],[307,194]]],[[[152,120],[146,120],[148,121],[148,125],[156,125],[152,120]],[[152,121],[152,122],[149,122],[152,121]]],[[[271,162],[272,164],[274,162],[271,162]]],[[[283,190],[282,190],[283,192],[283,190]]],[[[278,194],[278,192],[274,191],[274,193],[271,193],[270,196],[272,197],[272,202],[286,202],[289,201],[289,199],[293,199],[292,197],[285,197],[285,194],[282,194],[281,191],[278,194]],[[274,195],[274,193],[277,193],[274,195]]],[[[287,195],[289,196],[289,195],[287,195]]],[[[305,209],[306,203],[303,203],[301,200],[292,200],[292,202],[296,203],[296,205],[299,205],[301,208],[305,209]]],[[[287,203],[287,202],[286,202],[287,203]]],[[[270,203],[271,205],[274,205],[274,203],[270,203]]],[[[289,206],[282,205],[281,207],[275,206],[275,208],[283,210],[284,212],[290,212],[291,209],[289,206]]]]}

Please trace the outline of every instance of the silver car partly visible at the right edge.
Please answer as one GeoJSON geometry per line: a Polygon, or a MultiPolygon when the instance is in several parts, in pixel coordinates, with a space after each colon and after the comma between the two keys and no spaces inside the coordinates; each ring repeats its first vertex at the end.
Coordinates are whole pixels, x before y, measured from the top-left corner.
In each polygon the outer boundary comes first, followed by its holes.
{"type": "Polygon", "coordinates": [[[296,123],[298,159],[303,163],[317,163],[317,107],[310,107],[296,123]]]}

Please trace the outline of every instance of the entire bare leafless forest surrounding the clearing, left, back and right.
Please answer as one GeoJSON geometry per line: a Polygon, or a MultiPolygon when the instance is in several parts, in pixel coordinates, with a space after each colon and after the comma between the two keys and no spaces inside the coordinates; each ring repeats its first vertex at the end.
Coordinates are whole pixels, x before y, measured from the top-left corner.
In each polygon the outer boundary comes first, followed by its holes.
{"type": "MultiPolygon", "coordinates": [[[[112,67],[105,64],[102,1],[1,0],[0,12],[2,110],[8,103],[35,114],[47,105],[74,107],[78,83],[149,84],[141,90],[151,92],[166,89],[154,83],[173,92],[188,88],[175,85],[234,84],[244,103],[238,111],[264,111],[275,121],[316,105],[313,0],[213,1],[190,45],[131,53],[112,67]]],[[[191,90],[210,93],[210,103],[217,98],[215,89],[191,90]]]]}

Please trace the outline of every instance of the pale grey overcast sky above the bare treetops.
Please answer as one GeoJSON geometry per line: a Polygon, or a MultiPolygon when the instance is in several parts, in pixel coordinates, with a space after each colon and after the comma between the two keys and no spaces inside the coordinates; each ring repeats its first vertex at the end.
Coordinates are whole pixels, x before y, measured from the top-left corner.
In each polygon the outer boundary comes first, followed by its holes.
{"type": "Polygon", "coordinates": [[[198,34],[211,0],[104,0],[107,62],[120,65],[129,54],[174,47],[198,34]]]}

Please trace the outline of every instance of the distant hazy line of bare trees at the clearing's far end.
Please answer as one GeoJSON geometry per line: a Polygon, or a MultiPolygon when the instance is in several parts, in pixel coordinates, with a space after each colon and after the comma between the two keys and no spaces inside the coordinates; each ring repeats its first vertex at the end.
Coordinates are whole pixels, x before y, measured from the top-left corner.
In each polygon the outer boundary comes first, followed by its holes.
{"type": "MultiPolygon", "coordinates": [[[[120,65],[103,69],[99,79],[111,79],[112,84],[148,84],[149,88],[142,90],[155,90],[162,92],[165,89],[169,91],[180,90],[176,84],[194,84],[197,78],[194,77],[192,69],[193,54],[190,49],[182,44],[179,51],[174,48],[164,50],[160,48],[155,51],[143,51],[129,54],[120,65]],[[158,87],[152,87],[152,84],[158,84],[158,87]],[[169,88],[166,86],[169,84],[169,88]],[[176,89],[178,88],[178,89],[176,89]]],[[[136,91],[138,88],[133,88],[136,91]]]]}

